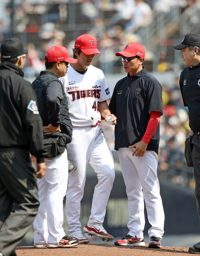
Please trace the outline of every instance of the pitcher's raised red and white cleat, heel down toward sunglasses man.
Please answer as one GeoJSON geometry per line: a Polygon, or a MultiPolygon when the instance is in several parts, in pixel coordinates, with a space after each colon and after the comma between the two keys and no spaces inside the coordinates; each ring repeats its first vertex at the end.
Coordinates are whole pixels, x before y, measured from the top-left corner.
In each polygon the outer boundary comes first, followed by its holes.
{"type": "Polygon", "coordinates": [[[104,229],[103,225],[100,223],[94,223],[90,226],[88,226],[88,223],[83,228],[84,233],[87,233],[90,236],[97,236],[101,238],[103,241],[111,241],[114,239],[113,236],[107,233],[107,231],[104,229]]]}

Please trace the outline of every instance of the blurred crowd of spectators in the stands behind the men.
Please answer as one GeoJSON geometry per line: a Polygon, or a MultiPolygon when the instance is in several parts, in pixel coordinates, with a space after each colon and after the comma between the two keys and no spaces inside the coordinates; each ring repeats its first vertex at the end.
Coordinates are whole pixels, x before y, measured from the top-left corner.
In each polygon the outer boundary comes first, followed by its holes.
{"type": "MultiPolygon", "coordinates": [[[[115,53],[128,42],[140,42],[140,30],[152,21],[153,12],[170,15],[174,6],[182,12],[200,9],[200,0],[1,0],[0,43],[8,37],[18,37],[27,45],[25,78],[34,80],[45,70],[44,56],[50,47],[65,46],[72,56],[74,39],[88,33],[96,37],[101,52],[92,65],[105,75],[119,74],[124,71],[115,53]]],[[[147,54],[147,61],[153,58],[148,56],[151,54],[147,54]]],[[[174,75],[170,86],[162,84],[164,114],[160,118],[158,175],[194,189],[193,171],[184,158],[190,129],[179,75],[174,75]]],[[[102,126],[113,150],[114,127],[104,121],[102,126]]]]}

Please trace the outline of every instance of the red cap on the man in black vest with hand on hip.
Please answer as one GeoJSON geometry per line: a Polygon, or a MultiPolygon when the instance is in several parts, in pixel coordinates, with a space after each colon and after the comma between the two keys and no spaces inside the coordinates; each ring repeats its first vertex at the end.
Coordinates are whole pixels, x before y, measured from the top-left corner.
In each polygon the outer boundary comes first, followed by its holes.
{"type": "Polygon", "coordinates": [[[76,63],[77,60],[74,58],[71,58],[69,56],[69,53],[67,52],[67,49],[63,46],[53,46],[51,47],[46,55],[48,59],[45,60],[45,62],[59,62],[59,61],[66,61],[69,63],[76,63]]]}

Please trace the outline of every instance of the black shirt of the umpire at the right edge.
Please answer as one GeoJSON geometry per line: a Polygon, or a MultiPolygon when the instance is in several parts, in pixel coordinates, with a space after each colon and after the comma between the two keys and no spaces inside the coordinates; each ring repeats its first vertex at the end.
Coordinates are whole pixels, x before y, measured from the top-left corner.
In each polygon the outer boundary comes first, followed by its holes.
{"type": "Polygon", "coordinates": [[[189,110],[189,127],[195,132],[200,131],[200,63],[187,66],[181,72],[180,89],[185,107],[189,110]]]}

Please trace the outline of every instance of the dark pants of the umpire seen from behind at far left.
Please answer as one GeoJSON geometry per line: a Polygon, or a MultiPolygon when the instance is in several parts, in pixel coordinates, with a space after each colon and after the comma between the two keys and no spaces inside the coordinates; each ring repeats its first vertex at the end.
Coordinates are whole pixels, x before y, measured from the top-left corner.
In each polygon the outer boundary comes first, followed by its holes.
{"type": "Polygon", "coordinates": [[[36,184],[28,151],[0,149],[0,252],[5,256],[16,255],[37,214],[36,184]]]}

